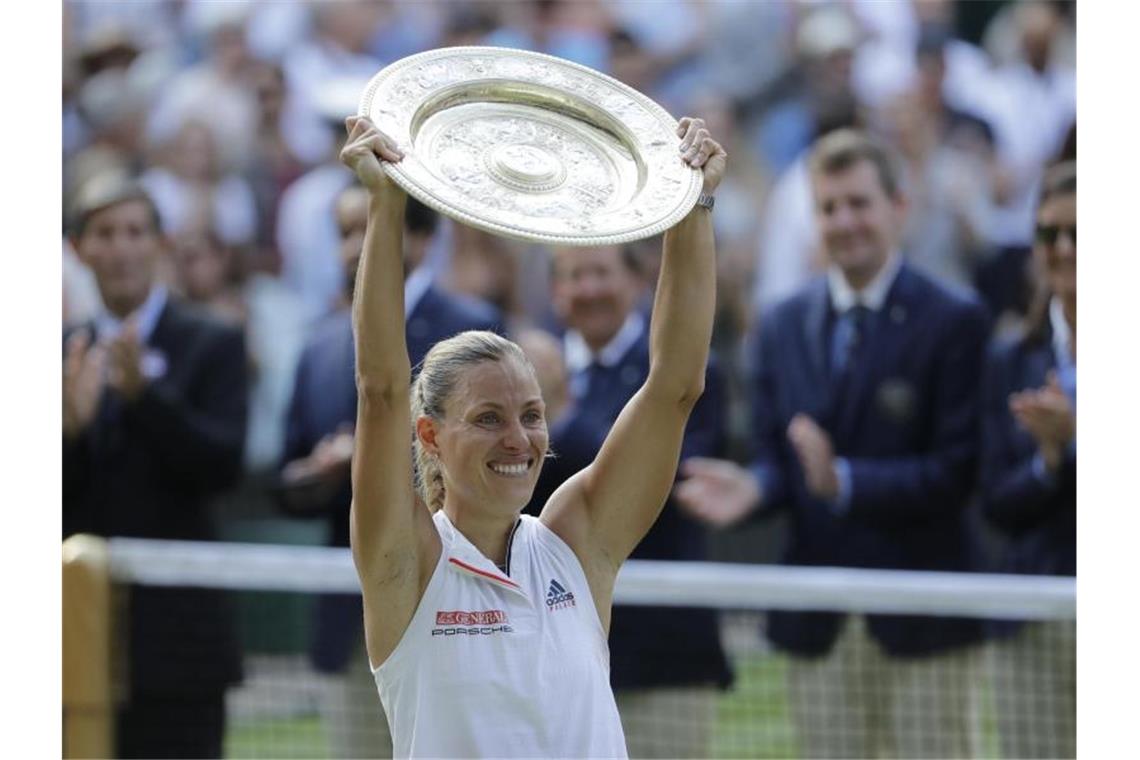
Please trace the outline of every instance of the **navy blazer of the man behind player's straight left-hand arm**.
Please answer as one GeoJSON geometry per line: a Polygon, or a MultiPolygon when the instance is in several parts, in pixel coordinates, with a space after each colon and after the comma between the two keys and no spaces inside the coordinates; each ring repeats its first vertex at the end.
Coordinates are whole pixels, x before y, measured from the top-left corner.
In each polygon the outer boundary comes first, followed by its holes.
{"type": "MultiPolygon", "coordinates": [[[[474,299],[429,287],[407,320],[408,358],[417,368],[440,341],[469,329],[502,332],[498,312],[474,299]]],[[[308,456],[342,425],[356,424],[356,346],[352,314],[341,310],[321,321],[301,353],[285,434],[285,461],[308,456]]],[[[349,545],[352,484],[341,487],[320,508],[328,520],[329,546],[349,545]]],[[[325,672],[340,672],[360,640],[364,610],[360,595],[324,595],[316,606],[310,655],[325,672]]]]}

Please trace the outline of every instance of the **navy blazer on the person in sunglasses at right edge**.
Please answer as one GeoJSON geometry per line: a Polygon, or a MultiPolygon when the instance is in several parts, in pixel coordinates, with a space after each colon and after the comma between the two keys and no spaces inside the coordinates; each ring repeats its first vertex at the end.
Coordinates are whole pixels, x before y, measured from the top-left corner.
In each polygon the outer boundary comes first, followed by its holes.
{"type": "Polygon", "coordinates": [[[982,397],[982,506],[1008,539],[999,572],[1076,574],[1075,448],[1047,484],[1033,472],[1036,443],[1009,410],[1011,393],[1043,386],[1056,367],[1048,330],[997,343],[990,354],[982,397]]]}

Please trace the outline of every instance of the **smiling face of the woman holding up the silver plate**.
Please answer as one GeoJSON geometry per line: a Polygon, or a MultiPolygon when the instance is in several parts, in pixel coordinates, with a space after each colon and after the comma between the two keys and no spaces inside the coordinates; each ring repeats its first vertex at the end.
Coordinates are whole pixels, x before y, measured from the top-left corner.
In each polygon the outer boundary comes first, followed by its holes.
{"type": "Polygon", "coordinates": [[[549,442],[545,409],[534,373],[514,359],[465,371],[435,433],[449,497],[469,507],[524,507],[549,442]]]}

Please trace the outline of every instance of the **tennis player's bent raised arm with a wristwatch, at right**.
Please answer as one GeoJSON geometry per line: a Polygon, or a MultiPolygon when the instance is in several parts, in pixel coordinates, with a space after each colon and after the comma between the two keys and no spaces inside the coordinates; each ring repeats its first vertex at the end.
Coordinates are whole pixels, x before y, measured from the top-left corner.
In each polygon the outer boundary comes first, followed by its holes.
{"type": "MultiPolygon", "coordinates": [[[[724,174],[724,149],[699,119],[682,119],[678,133],[682,157],[702,169],[703,193],[711,194],[724,174]]],[[[712,220],[697,206],[665,234],[649,378],[621,410],[594,463],[567,481],[543,512],[592,579],[617,573],[665,505],[685,423],[703,390],[715,307],[712,220]]]]}

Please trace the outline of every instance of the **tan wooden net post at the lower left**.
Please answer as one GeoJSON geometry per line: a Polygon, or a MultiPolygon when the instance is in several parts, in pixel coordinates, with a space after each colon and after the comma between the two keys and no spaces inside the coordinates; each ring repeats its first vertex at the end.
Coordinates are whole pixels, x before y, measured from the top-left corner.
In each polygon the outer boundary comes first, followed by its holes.
{"type": "Polygon", "coordinates": [[[63,544],[63,727],[65,758],[113,754],[111,573],[107,542],[63,544]]]}

